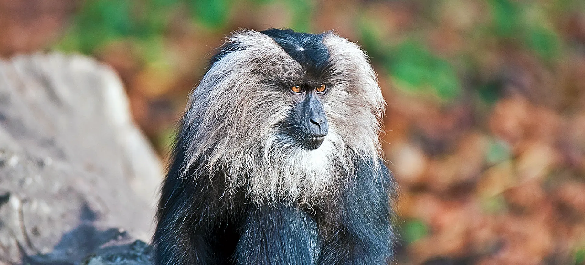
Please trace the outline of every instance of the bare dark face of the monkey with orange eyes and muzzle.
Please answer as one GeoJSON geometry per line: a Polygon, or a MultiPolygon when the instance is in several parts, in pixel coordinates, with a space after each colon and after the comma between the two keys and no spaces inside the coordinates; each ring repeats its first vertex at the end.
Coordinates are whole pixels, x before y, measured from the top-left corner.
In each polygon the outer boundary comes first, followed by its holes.
{"type": "Polygon", "coordinates": [[[301,84],[291,87],[295,104],[288,119],[288,135],[308,150],[318,149],[329,132],[329,123],[321,97],[327,92],[318,92],[319,86],[301,84]]]}

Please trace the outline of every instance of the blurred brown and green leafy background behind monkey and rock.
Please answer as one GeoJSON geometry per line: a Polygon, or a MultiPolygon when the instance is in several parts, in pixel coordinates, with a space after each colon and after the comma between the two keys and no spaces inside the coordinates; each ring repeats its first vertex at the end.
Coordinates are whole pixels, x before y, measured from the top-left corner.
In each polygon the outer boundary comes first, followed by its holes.
{"type": "Polygon", "coordinates": [[[584,264],[583,0],[0,0],[0,56],[109,64],[165,160],[214,47],[269,27],[369,53],[399,264],[584,264]]]}

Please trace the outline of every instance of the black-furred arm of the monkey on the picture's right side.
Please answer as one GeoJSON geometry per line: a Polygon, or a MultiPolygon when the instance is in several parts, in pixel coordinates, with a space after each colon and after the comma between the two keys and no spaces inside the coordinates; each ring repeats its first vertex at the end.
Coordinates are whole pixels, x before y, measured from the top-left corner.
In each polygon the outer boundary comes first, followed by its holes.
{"type": "Polygon", "coordinates": [[[394,230],[391,194],[394,177],[380,161],[381,175],[373,175],[371,165],[362,161],[352,182],[344,187],[333,218],[324,236],[321,256],[316,264],[387,264],[393,257],[394,230]]]}

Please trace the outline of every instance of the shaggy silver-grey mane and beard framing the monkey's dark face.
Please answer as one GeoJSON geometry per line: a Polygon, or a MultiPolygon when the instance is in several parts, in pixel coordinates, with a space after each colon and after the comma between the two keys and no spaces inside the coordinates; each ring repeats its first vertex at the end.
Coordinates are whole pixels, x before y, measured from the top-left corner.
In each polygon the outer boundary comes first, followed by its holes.
{"type": "Polygon", "coordinates": [[[332,72],[323,101],[329,134],[309,151],[279,136],[292,101],[272,82],[302,80],[307,72],[301,64],[253,30],[236,32],[227,42],[237,49],[216,61],[190,95],[182,178],[192,177],[188,172],[199,163],[208,173],[225,168],[227,191],[245,190],[254,201],[313,202],[335,192],[352,175],[356,159],[379,167],[385,102],[359,46],[332,32],[323,37],[332,72]]]}

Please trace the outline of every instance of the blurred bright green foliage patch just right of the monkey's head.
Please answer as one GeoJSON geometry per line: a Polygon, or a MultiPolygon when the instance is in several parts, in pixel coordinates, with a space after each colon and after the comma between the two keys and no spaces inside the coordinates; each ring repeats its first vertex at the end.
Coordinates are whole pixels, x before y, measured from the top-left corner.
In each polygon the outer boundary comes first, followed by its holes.
{"type": "Polygon", "coordinates": [[[411,92],[431,92],[441,99],[455,99],[461,93],[459,77],[448,61],[415,42],[404,42],[386,64],[390,74],[411,92]]]}

